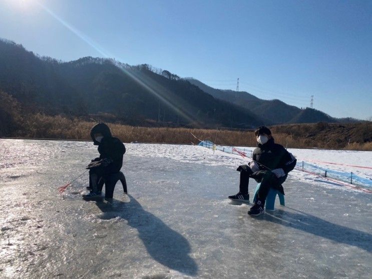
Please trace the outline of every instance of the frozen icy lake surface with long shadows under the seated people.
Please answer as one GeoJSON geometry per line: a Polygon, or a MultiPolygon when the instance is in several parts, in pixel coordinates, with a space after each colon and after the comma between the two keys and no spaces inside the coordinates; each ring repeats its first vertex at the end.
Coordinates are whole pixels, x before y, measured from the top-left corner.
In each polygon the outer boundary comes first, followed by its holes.
{"type": "MultiPolygon", "coordinates": [[[[286,206],[251,217],[249,205],[227,199],[243,158],[126,147],[129,195],[119,182],[113,200],[86,202],[88,173],[63,196],[57,188],[97,157],[92,142],[0,140],[0,277],[370,278],[371,194],[292,171],[286,206]]],[[[332,153],[344,163],[347,152],[332,153]]],[[[367,166],[371,154],[356,152],[350,165],[367,166]]]]}

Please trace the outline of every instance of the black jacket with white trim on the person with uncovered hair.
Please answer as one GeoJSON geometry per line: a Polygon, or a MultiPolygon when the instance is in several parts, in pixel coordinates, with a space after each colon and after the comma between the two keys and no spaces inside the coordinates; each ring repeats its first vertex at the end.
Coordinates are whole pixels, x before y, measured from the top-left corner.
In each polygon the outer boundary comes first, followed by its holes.
{"type": "Polygon", "coordinates": [[[287,177],[288,172],[294,169],[297,160],[282,145],[269,139],[265,144],[257,143],[253,150],[252,159],[259,163],[260,170],[274,170],[282,168],[287,177]]]}

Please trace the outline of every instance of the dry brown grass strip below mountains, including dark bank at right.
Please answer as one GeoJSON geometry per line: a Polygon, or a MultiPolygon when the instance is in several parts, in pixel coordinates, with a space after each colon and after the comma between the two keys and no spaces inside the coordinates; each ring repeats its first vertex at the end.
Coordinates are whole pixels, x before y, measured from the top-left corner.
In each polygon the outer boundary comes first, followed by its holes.
{"type": "MultiPolygon", "coordinates": [[[[22,129],[12,136],[90,140],[95,122],[63,116],[34,114],[24,118],[22,129]]],[[[218,145],[255,146],[253,131],[221,129],[151,128],[107,123],[114,136],[123,142],[198,144],[191,133],[218,145]]],[[[289,148],[327,148],[372,151],[372,123],[357,124],[290,124],[270,127],[277,143],[289,148]]]]}

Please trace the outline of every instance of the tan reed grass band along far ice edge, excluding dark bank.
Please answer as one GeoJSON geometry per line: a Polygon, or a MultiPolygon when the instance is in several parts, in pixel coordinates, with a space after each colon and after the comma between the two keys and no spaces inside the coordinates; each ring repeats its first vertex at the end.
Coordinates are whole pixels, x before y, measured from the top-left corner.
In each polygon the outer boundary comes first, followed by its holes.
{"type": "MultiPolygon", "coordinates": [[[[24,118],[23,129],[19,130],[16,136],[27,138],[58,138],[91,140],[90,130],[97,123],[70,119],[63,116],[48,116],[37,113],[32,117],[24,118]],[[26,119],[26,120],[25,120],[26,119]]],[[[133,127],[115,123],[107,123],[113,136],[123,142],[147,142],[147,143],[176,143],[176,144],[199,144],[194,134],[201,140],[210,140],[218,145],[229,146],[256,146],[256,139],[253,131],[230,131],[216,129],[187,129],[187,128],[158,128],[158,127],[133,127]]],[[[288,148],[330,148],[345,150],[367,150],[372,151],[372,142],[338,144],[334,146],[332,141],[315,141],[305,135],[308,129],[301,128],[291,130],[295,126],[286,127],[289,131],[280,132],[278,127],[273,127],[275,142],[288,148]],[[301,137],[300,131],[303,132],[301,137]]],[[[305,126],[306,127],[306,126],[305,126]]]]}

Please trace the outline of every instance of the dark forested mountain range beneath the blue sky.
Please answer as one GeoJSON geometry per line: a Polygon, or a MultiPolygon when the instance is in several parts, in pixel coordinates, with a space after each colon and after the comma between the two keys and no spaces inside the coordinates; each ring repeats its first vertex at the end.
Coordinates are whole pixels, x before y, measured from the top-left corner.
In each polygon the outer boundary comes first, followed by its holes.
{"type": "Polygon", "coordinates": [[[27,111],[143,126],[254,128],[259,125],[354,122],[247,92],[211,88],[150,65],[84,57],[62,62],[0,40],[0,91],[27,111]]]}

